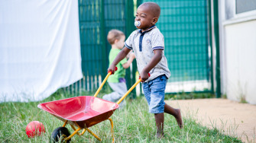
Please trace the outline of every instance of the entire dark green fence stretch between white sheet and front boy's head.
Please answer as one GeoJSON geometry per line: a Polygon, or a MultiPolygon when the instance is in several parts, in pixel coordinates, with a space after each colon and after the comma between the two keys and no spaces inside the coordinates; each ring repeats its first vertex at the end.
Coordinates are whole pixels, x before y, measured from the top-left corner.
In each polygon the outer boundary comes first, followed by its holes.
{"type": "MultiPolygon", "coordinates": [[[[83,79],[68,87],[73,94],[81,90],[95,91],[107,75],[111,49],[106,38],[109,30],[122,30],[127,37],[128,33],[134,30],[134,26],[130,24],[134,21],[132,1],[79,0],[78,2],[83,79]],[[131,6],[131,9],[128,9],[128,6],[131,6]],[[131,26],[128,27],[128,24],[131,26]]],[[[128,75],[131,75],[130,71],[128,75]]],[[[127,78],[127,81],[130,86],[131,78],[127,78]]]]}

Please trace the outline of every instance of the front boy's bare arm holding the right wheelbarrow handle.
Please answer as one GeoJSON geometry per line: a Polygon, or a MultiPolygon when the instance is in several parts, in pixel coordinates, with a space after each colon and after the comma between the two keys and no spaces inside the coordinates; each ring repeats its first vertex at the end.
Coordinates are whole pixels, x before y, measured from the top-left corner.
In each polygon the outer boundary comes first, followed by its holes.
{"type": "Polygon", "coordinates": [[[146,67],[141,71],[141,75],[140,75],[141,82],[144,82],[147,80],[149,71],[151,71],[151,69],[154,68],[154,66],[156,66],[158,62],[160,62],[160,60],[162,59],[162,52],[163,52],[163,49],[154,50],[154,56],[151,59],[151,62],[149,62],[146,65],[146,67]]]}

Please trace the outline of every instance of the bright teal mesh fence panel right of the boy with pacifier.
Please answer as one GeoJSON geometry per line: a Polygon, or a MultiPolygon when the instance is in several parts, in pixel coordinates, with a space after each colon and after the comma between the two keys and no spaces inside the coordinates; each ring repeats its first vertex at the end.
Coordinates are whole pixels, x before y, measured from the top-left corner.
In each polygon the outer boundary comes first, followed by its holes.
{"type": "Polygon", "coordinates": [[[171,90],[167,91],[211,91],[207,1],[151,2],[161,8],[156,25],[164,34],[165,56],[172,74],[168,81],[171,90]]]}

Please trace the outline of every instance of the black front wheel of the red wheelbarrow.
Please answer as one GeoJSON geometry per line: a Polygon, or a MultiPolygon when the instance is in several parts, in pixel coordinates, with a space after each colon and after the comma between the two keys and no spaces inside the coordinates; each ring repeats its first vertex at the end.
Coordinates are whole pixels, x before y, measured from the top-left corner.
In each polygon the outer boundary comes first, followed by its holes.
{"type": "MultiPolygon", "coordinates": [[[[57,129],[54,129],[53,133],[50,135],[50,142],[59,142],[60,139],[63,141],[63,138],[66,138],[68,136],[70,136],[69,130],[65,127],[59,127],[57,129]]],[[[71,138],[66,142],[69,143],[70,141],[71,138]]]]}

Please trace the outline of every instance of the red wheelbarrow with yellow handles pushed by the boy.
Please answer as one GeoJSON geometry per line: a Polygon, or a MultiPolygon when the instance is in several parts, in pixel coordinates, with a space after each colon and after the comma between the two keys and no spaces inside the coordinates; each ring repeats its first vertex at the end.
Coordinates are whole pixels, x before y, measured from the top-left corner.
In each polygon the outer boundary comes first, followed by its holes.
{"type": "Polygon", "coordinates": [[[125,93],[125,95],[123,95],[120,100],[118,100],[117,103],[112,103],[110,101],[102,100],[96,97],[97,94],[99,94],[103,84],[105,84],[105,81],[111,74],[112,73],[109,72],[109,74],[102,81],[102,84],[99,86],[96,94],[94,94],[94,97],[72,97],[64,100],[41,103],[38,105],[41,110],[47,111],[48,113],[57,117],[57,119],[60,119],[64,122],[62,127],[59,127],[53,131],[51,140],[59,141],[61,139],[62,141],[70,142],[74,135],[83,135],[86,131],[88,131],[91,135],[101,141],[101,139],[95,135],[89,129],[89,127],[109,119],[111,123],[112,142],[115,141],[113,122],[109,117],[112,116],[116,109],[118,109],[118,104],[121,103],[122,100],[124,100],[125,97],[134,89],[134,87],[136,87],[136,85],[141,82],[141,79],[136,81],[136,83],[125,93]],[[66,124],[70,124],[74,130],[71,135],[65,127],[66,124]],[[79,131],[82,129],[83,131],[79,133],[79,131]]]}

